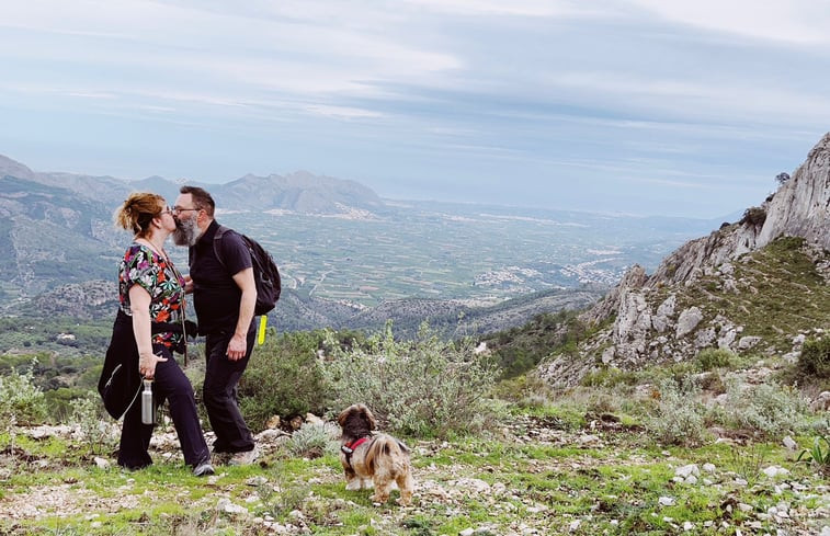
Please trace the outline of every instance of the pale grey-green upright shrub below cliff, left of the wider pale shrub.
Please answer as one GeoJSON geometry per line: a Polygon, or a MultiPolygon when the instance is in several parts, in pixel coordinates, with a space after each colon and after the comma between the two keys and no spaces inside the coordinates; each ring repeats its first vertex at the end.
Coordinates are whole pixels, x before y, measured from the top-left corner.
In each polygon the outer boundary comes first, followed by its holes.
{"type": "Polygon", "coordinates": [[[667,378],[658,384],[659,398],[646,429],[667,445],[698,445],[706,435],[705,408],[700,403],[701,388],[691,377],[678,383],[667,378]]]}

